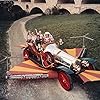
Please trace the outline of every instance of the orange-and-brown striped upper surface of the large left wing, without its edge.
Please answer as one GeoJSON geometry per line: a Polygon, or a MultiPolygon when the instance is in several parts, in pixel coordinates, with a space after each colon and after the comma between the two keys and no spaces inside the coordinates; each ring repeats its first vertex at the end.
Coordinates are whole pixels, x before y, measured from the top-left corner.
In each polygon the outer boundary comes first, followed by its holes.
{"type": "Polygon", "coordinates": [[[48,70],[39,67],[37,64],[35,64],[31,60],[27,60],[11,68],[9,72],[14,73],[14,74],[17,74],[17,73],[48,73],[48,70]]]}

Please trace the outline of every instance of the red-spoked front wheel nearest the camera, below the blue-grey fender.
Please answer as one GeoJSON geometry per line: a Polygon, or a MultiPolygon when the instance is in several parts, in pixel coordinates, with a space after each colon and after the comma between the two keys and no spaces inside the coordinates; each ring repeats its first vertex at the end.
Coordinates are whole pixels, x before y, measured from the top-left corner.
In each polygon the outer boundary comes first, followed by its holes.
{"type": "Polygon", "coordinates": [[[61,86],[65,90],[70,91],[72,89],[73,85],[72,85],[71,76],[69,76],[65,72],[61,71],[58,73],[58,80],[59,80],[61,86]]]}

